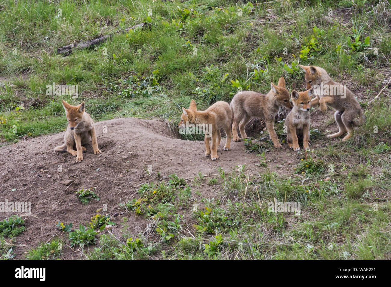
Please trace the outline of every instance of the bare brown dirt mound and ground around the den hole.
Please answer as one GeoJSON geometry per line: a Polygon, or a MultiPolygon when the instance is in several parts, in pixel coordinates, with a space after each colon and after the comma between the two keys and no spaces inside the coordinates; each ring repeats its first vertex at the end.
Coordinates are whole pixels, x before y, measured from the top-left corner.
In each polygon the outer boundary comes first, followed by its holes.
{"type": "MultiPolygon", "coordinates": [[[[325,118],[332,116],[331,112],[327,114],[314,112],[313,128],[336,130],[335,123],[332,127],[326,126],[325,118]]],[[[81,163],[76,163],[69,153],[54,152],[54,147],[63,143],[64,132],[0,148],[0,201],[31,201],[32,215],[23,216],[27,229],[12,242],[26,245],[15,249],[15,259],[25,258],[23,253],[36,248],[39,242],[50,241],[56,236],[66,238],[56,227],[57,221],[72,222],[76,228],[79,224],[87,225],[103,205],[107,205],[107,211],[102,214],[108,213],[113,222],[120,223],[122,217],[128,217],[128,231],[131,234],[143,232],[147,219],[127,214],[119,207],[119,203],[134,198],[143,183],[158,182],[163,176],[176,173],[190,184],[199,172],[208,178],[217,178],[219,167],[231,172],[240,164],[245,164],[246,173],[253,177],[265,170],[255,165],[259,163],[259,157],[246,153],[243,142],[232,141],[231,150],[223,151],[225,139],[222,139],[218,150],[220,159],[212,161],[204,155],[203,141],[178,139],[162,121],[119,118],[98,122],[95,129],[102,154],[94,155],[89,144],[81,163]],[[152,166],[151,175],[147,174],[148,165],[152,166]],[[65,185],[67,180],[71,181],[70,185],[65,185]],[[82,187],[96,187],[100,201],[92,200],[83,205],[75,194],[82,187]],[[119,216],[113,217],[117,212],[119,216]]],[[[328,142],[325,137],[325,140],[311,143],[310,147],[325,146],[328,142]]],[[[287,144],[284,148],[272,148],[266,153],[266,159],[270,160],[268,169],[289,176],[300,154],[289,150],[287,144]]],[[[219,196],[220,188],[207,184],[197,188],[203,197],[219,196]]],[[[4,213],[0,220],[9,216],[11,213],[4,213]]],[[[117,224],[113,232],[116,228],[119,230],[121,226],[117,224]]],[[[83,259],[80,254],[71,248],[64,249],[66,259],[83,259]]]]}

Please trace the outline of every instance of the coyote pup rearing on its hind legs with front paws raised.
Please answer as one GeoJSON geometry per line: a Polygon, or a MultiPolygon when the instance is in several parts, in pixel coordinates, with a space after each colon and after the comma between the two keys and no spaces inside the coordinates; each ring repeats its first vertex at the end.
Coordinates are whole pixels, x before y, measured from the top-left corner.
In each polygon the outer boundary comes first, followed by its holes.
{"type": "Polygon", "coordinates": [[[345,86],[334,82],[325,69],[316,66],[300,65],[300,67],[305,71],[307,89],[314,87],[313,93],[316,98],[311,100],[311,105],[319,103],[322,112],[326,111],[326,105],[335,110],[334,118],[339,127],[339,132],[327,135],[327,137],[340,137],[348,132],[342,139],[342,141],[346,141],[352,136],[353,125],[360,126],[365,121],[365,115],[360,104],[354,98],[353,93],[345,86]]]}

